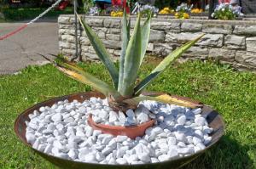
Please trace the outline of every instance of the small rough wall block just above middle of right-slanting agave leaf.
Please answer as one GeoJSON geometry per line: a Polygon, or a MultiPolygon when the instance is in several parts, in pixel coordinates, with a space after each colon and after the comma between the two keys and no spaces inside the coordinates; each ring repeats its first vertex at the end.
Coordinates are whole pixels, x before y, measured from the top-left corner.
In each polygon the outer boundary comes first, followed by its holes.
{"type": "Polygon", "coordinates": [[[154,50],[153,54],[159,55],[159,56],[167,56],[172,52],[172,44],[168,43],[154,43],[154,50]]]}

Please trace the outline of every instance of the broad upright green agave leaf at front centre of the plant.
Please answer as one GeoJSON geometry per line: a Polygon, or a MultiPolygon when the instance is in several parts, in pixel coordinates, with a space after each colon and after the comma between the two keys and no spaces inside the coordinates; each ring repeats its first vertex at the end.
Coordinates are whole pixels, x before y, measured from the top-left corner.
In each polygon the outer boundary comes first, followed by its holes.
{"type": "Polygon", "coordinates": [[[125,53],[123,82],[122,86],[119,87],[119,93],[125,97],[133,95],[135,82],[137,80],[137,71],[140,66],[142,45],[140,20],[141,16],[139,15],[125,53]]]}

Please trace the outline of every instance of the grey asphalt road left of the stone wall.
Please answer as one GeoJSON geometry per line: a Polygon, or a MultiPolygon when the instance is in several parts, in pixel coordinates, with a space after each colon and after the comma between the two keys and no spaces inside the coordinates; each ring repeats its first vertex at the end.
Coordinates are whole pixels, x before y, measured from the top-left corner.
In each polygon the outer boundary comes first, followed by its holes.
{"type": "MultiPolygon", "coordinates": [[[[0,23],[0,37],[24,23],[0,23]]],[[[0,41],[0,75],[12,74],[27,65],[44,65],[39,54],[58,54],[57,20],[41,20],[0,41]]]]}

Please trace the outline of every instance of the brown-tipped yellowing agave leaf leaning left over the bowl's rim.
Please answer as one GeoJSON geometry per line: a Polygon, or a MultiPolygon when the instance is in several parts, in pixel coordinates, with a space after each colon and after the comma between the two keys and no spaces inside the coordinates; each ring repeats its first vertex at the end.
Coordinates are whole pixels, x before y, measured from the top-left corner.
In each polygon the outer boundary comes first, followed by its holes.
{"type": "Polygon", "coordinates": [[[120,94],[106,82],[103,82],[95,76],[91,76],[75,65],[61,63],[59,66],[57,66],[57,68],[74,80],[90,85],[90,87],[94,87],[97,91],[104,94],[106,97],[113,97],[114,99],[118,99],[120,97],[120,94]]]}

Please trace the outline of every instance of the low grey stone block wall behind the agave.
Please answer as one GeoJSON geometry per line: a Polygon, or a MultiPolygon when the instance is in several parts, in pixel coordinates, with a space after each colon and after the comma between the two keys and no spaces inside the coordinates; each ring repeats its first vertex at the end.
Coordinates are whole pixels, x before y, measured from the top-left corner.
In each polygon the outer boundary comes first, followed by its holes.
{"type": "MultiPolygon", "coordinates": [[[[121,18],[86,16],[85,20],[102,38],[113,59],[118,59],[122,38],[121,18]]],[[[60,52],[71,56],[75,53],[73,15],[61,15],[58,22],[60,52]]],[[[134,25],[135,18],[132,18],[131,28],[134,25]]],[[[256,21],[154,18],[151,24],[148,54],[165,57],[202,32],[205,36],[183,54],[183,59],[218,59],[239,70],[256,70],[256,21]]],[[[81,27],[79,27],[79,54],[84,60],[97,59],[81,27]]]]}

